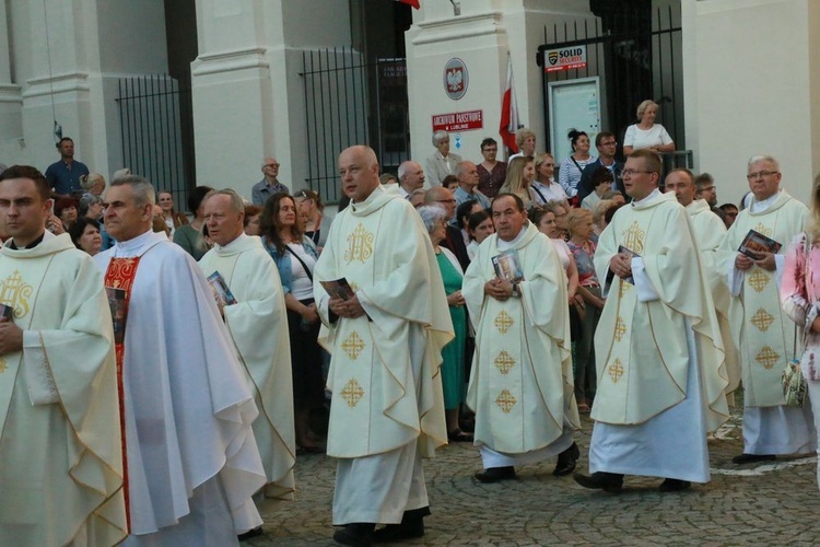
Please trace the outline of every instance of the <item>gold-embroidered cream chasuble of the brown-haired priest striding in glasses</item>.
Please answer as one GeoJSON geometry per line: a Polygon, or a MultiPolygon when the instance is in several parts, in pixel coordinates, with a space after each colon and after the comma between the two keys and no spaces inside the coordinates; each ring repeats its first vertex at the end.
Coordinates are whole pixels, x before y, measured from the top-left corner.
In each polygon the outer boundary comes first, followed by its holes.
{"type": "Polygon", "coordinates": [[[715,429],[728,418],[724,349],[689,216],[672,194],[621,208],[598,240],[598,279],[607,279],[620,245],[643,258],[658,299],[640,302],[633,284],[612,278],[595,335],[593,419],[637,424],[673,407],[687,396],[692,362],[701,371],[707,427],[715,429]],[[696,356],[689,354],[688,328],[696,356]]]}

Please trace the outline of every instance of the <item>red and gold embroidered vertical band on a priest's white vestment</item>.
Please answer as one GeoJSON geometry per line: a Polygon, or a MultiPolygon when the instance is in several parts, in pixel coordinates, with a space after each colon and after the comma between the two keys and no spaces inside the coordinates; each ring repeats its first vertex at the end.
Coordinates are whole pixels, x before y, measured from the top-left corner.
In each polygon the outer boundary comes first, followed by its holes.
{"type": "Polygon", "coordinates": [[[114,352],[117,358],[117,392],[119,395],[119,426],[122,430],[122,490],[126,500],[126,523],[131,531],[131,511],[128,498],[128,453],[126,451],[126,409],[122,388],[122,359],[126,352],[126,319],[128,303],[131,299],[131,287],[137,276],[140,257],[112,258],[105,271],[105,291],[114,321],[114,352]]]}

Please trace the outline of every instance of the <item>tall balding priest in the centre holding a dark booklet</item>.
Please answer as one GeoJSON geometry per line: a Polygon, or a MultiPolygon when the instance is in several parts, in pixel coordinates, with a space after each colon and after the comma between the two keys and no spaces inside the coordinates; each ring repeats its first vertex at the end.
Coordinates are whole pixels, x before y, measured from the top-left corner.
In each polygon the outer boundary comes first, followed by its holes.
{"type": "MultiPolygon", "coordinates": [[[[453,338],[444,284],[418,213],[378,184],[368,147],[339,155],[351,205],[316,264],[314,290],[332,347],[327,453],[338,458],[333,539],[370,545],[424,534],[430,514],[421,457],[447,439],[437,376],[453,338]],[[321,282],[344,278],[353,295],[321,282]],[[345,298],[342,298],[345,296],[345,298]]],[[[441,188],[440,188],[441,189],[441,188]]]]}

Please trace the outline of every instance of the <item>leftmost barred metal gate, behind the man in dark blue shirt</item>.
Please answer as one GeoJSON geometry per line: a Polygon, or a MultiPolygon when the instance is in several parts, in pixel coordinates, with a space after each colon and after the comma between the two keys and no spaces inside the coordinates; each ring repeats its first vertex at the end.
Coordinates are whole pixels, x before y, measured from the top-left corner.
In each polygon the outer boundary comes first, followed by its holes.
{"type": "Polygon", "coordinates": [[[122,78],[117,104],[124,166],[171,191],[175,209],[185,211],[196,186],[190,80],[122,78]]]}

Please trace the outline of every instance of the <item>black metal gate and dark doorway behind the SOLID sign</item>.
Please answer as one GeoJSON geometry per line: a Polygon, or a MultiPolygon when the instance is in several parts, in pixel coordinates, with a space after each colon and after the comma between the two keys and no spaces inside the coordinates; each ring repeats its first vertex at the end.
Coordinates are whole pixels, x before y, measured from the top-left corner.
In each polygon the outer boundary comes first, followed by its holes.
{"type": "MultiPolygon", "coordinates": [[[[683,131],[683,78],[681,73],[680,4],[653,10],[648,2],[624,8],[625,2],[596,12],[595,22],[544,27],[544,44],[538,48],[543,69],[544,123],[550,127],[548,88],[550,82],[599,77],[604,97],[601,129],[618,136],[619,154],[626,127],[635,123],[637,105],[652,98],[658,103],[658,121],[675,140],[678,152],[667,154],[667,163],[691,166],[683,131]],[[587,66],[547,71],[547,51],[586,46],[587,66]]],[[[551,150],[549,130],[547,150],[551,150]]],[[[595,151],[593,150],[593,153],[595,151]]]]}

